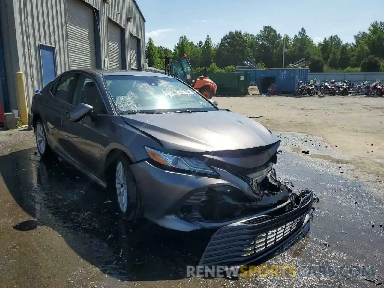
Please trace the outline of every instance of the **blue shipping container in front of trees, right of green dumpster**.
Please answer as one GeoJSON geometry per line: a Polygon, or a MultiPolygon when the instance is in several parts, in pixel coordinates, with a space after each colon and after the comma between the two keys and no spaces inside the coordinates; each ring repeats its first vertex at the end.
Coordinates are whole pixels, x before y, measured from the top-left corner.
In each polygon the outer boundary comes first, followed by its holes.
{"type": "Polygon", "coordinates": [[[307,68],[239,69],[236,72],[251,73],[250,82],[257,83],[261,93],[266,93],[271,84],[276,84],[276,92],[292,93],[300,80],[308,83],[307,68]]]}

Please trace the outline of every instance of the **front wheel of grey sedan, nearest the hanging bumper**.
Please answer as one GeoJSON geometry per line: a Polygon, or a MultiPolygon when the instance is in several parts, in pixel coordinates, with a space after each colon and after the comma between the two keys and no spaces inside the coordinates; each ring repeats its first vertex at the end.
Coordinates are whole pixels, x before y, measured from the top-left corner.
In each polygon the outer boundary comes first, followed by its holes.
{"type": "Polygon", "coordinates": [[[121,218],[128,221],[140,218],[142,216],[141,195],[136,187],[136,180],[126,156],[117,157],[113,175],[114,181],[111,184],[114,187],[116,204],[121,218]]]}

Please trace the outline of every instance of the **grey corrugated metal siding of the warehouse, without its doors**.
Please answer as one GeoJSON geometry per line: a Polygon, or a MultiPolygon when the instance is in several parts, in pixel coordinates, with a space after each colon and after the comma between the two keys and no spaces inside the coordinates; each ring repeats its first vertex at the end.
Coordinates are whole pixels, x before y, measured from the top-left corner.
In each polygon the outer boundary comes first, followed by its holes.
{"type": "MultiPolygon", "coordinates": [[[[4,0],[1,0],[4,1],[4,0]]],[[[39,43],[55,46],[57,74],[69,69],[68,47],[66,42],[66,5],[65,0],[6,0],[7,5],[13,5],[18,11],[16,18],[16,32],[21,33],[21,47],[19,51],[20,70],[25,73],[27,101],[29,107],[31,98],[36,89],[41,89],[43,79],[41,76],[41,60],[39,43]]],[[[89,3],[99,10],[100,17],[100,42],[101,64],[108,67],[108,18],[121,25],[126,30],[126,57],[129,62],[129,39],[133,34],[141,40],[141,67],[145,61],[145,28],[144,20],[136,8],[134,0],[114,0],[111,4],[104,4],[103,0],[80,0],[89,3]],[[127,17],[132,17],[132,22],[127,22],[127,17]]],[[[15,47],[16,48],[16,47],[15,47]]],[[[13,71],[7,74],[15,78],[18,67],[12,66],[13,71]]],[[[128,67],[129,68],[129,65],[128,67]]],[[[11,95],[15,97],[15,95],[11,95]]],[[[15,100],[13,99],[13,108],[15,100]]],[[[29,108],[28,108],[29,109],[29,108]]]]}

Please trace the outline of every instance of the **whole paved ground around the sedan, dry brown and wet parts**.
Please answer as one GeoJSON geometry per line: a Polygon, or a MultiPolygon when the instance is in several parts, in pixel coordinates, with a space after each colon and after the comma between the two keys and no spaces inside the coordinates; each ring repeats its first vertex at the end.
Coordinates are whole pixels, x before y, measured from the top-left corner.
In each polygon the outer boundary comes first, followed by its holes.
{"type": "Polygon", "coordinates": [[[206,235],[172,232],[146,220],[121,223],[105,190],[65,162],[41,161],[32,131],[0,132],[0,287],[375,286],[365,278],[384,285],[380,193],[357,182],[353,167],[340,164],[348,157],[321,139],[278,135],[278,176],[314,190],[320,201],[309,232],[253,265],[295,266],[300,273],[226,279],[186,276],[206,235]],[[361,276],[363,266],[374,275],[361,276]]]}

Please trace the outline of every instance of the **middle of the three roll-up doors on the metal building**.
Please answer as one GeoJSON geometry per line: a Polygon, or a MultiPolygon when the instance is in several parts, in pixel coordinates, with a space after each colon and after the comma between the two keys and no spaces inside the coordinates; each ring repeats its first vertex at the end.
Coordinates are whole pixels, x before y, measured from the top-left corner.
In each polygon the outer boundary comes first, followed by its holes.
{"type": "Polygon", "coordinates": [[[122,69],[121,62],[121,28],[108,22],[109,34],[109,69],[122,69]]]}

